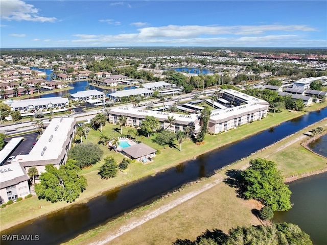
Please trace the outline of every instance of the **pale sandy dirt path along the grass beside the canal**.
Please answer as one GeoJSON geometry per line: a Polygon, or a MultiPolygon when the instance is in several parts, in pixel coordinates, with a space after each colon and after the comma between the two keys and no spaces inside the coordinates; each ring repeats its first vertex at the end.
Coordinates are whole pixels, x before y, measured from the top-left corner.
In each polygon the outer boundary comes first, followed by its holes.
{"type": "Polygon", "coordinates": [[[216,186],[217,184],[221,183],[223,180],[223,178],[220,178],[218,180],[215,180],[213,183],[211,184],[206,184],[205,186],[203,186],[202,188],[189,192],[185,195],[183,195],[182,197],[170,202],[169,204],[166,204],[164,206],[161,206],[155,210],[153,210],[152,212],[140,217],[138,220],[136,220],[135,222],[132,222],[128,225],[122,226],[118,231],[116,231],[114,234],[108,236],[106,239],[101,240],[101,241],[97,241],[97,242],[93,242],[90,243],[90,245],[102,245],[102,244],[106,244],[109,241],[112,241],[113,239],[121,236],[122,234],[134,229],[137,226],[140,226],[146,222],[148,222],[150,219],[155,218],[157,216],[159,216],[162,213],[165,213],[167,211],[169,211],[170,209],[178,206],[179,204],[182,204],[194,197],[196,197],[196,195],[216,186]]]}

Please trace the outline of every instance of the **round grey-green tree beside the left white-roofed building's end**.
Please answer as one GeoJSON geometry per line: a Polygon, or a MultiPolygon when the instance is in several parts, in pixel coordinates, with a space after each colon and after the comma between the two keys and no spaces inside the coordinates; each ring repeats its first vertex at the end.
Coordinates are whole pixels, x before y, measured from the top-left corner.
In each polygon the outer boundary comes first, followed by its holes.
{"type": "Polygon", "coordinates": [[[68,158],[76,160],[80,168],[96,164],[102,158],[103,151],[99,145],[87,142],[76,144],[68,153],[68,158]]]}

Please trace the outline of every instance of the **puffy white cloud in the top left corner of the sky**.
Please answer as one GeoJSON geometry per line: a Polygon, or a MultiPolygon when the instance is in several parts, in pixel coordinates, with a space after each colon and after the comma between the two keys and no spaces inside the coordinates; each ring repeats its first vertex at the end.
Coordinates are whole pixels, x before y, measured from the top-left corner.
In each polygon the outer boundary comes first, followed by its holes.
{"type": "Polygon", "coordinates": [[[35,22],[54,22],[55,17],[43,17],[39,15],[39,10],[31,4],[26,4],[20,0],[4,0],[0,2],[1,18],[6,20],[27,20],[35,22]]]}

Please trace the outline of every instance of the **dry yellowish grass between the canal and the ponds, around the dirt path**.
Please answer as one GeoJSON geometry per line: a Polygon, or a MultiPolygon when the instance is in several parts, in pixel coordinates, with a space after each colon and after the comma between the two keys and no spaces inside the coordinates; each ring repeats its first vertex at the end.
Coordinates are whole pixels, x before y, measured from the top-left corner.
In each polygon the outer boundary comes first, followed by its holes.
{"type": "MultiPolygon", "coordinates": [[[[308,151],[301,142],[310,139],[303,133],[312,128],[327,127],[327,119],[303,129],[296,134],[278,142],[271,147],[249,156],[246,159],[227,166],[216,175],[193,183],[179,191],[164,197],[146,207],[133,210],[130,213],[115,219],[104,226],[92,229],[67,244],[89,244],[105,240],[115,234],[122,227],[142,220],[145,215],[167,205],[185,194],[226,178],[225,170],[244,169],[250,159],[267,158],[275,161],[285,177],[301,176],[303,173],[319,173],[327,170],[326,158],[308,151]]],[[[245,201],[237,197],[236,189],[220,182],[209,190],[202,192],[189,201],[161,214],[148,222],[138,226],[106,244],[171,244],[176,239],[194,240],[206,230],[222,230],[227,233],[229,229],[237,226],[261,225],[261,222],[252,214],[252,209],[260,209],[259,202],[245,201]],[[217,197],[217,198],[214,198],[217,197]]]]}

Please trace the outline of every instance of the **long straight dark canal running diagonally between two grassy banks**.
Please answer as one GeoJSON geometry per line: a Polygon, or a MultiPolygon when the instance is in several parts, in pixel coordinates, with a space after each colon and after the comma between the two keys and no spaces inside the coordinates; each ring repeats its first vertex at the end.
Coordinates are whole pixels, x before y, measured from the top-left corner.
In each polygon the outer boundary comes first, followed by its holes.
{"type": "MultiPolygon", "coordinates": [[[[3,234],[38,235],[39,241],[32,244],[58,244],[67,241],[89,229],[105,224],[124,212],[149,204],[185,183],[209,177],[216,169],[247,157],[325,117],[327,117],[327,108],[308,113],[244,140],[203,154],[195,160],[181,163],[155,176],[107,191],[87,203],[72,205],[67,209],[12,227],[3,234]]],[[[21,243],[2,241],[2,244],[21,243]]]]}

